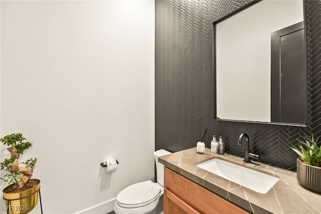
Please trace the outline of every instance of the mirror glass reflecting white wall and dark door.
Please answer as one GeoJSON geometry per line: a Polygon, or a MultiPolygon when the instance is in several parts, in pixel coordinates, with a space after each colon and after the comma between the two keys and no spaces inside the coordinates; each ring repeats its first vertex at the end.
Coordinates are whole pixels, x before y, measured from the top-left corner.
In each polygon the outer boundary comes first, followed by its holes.
{"type": "Polygon", "coordinates": [[[214,22],[215,119],[304,125],[302,1],[264,0],[214,22]]]}

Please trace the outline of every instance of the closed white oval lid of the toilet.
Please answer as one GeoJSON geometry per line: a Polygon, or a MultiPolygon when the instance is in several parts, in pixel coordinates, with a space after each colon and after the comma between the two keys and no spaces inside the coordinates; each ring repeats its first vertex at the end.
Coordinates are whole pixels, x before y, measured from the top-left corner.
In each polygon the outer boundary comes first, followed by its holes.
{"type": "Polygon", "coordinates": [[[161,195],[161,188],[150,180],[132,184],[117,195],[116,203],[121,207],[145,206],[161,195]]]}

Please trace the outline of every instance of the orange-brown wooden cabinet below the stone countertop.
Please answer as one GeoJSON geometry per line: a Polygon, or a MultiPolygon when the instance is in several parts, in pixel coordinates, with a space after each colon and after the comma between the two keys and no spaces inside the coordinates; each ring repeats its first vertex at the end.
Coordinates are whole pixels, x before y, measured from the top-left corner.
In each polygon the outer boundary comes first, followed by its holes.
{"type": "Polygon", "coordinates": [[[173,213],[249,212],[164,167],[164,214],[173,213]]]}

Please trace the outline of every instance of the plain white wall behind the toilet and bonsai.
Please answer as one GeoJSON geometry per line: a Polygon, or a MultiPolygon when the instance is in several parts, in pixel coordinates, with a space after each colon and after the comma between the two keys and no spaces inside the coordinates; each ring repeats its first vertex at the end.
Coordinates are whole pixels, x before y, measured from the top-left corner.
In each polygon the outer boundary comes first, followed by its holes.
{"type": "Polygon", "coordinates": [[[21,161],[38,158],[44,213],[153,179],[154,2],[2,1],[0,100],[1,137],[33,142],[21,161]],[[120,162],[111,174],[107,158],[120,162]]]}

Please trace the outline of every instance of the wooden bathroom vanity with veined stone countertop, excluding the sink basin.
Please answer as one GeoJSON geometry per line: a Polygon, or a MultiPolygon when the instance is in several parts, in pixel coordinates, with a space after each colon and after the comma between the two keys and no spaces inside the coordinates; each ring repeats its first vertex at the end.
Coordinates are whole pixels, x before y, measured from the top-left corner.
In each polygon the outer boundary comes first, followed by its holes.
{"type": "Polygon", "coordinates": [[[165,166],[164,213],[321,213],[321,194],[300,186],[296,173],[242,158],[191,148],[158,158],[165,166]],[[208,172],[198,164],[219,158],[277,177],[266,193],[208,172]]]}

